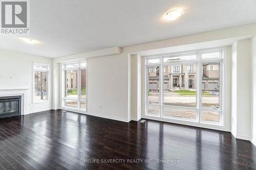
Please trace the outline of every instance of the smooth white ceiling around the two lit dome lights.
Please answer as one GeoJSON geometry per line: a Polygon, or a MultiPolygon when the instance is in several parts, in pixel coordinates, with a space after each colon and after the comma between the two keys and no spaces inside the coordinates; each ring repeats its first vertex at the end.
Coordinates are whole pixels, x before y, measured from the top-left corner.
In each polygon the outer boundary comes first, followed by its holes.
{"type": "Polygon", "coordinates": [[[46,57],[129,46],[256,22],[255,0],[40,0],[30,1],[27,44],[1,36],[0,48],[46,57]],[[183,15],[162,15],[182,8],[183,15]]]}

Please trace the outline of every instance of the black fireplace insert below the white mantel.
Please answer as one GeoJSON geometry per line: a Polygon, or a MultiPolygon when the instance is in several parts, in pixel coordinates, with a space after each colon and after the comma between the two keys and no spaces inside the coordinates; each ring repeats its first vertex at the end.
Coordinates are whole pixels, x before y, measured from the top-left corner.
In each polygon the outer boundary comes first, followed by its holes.
{"type": "Polygon", "coordinates": [[[0,96],[0,119],[19,116],[22,113],[22,96],[0,96]]]}

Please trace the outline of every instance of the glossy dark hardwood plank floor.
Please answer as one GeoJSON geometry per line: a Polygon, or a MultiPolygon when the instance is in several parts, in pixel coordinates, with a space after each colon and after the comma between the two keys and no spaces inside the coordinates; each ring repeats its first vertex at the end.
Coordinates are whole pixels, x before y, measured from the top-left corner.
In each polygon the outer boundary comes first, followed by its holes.
{"type": "Polygon", "coordinates": [[[0,120],[1,169],[256,169],[256,147],[228,132],[49,110],[0,120]]]}

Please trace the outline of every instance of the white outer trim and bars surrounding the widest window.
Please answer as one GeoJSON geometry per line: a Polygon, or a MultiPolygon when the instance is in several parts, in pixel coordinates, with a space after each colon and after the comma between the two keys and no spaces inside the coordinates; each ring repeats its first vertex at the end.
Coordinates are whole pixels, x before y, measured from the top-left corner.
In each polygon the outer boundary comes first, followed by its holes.
{"type": "MultiPolygon", "coordinates": [[[[227,47],[216,47],[216,48],[208,48],[208,49],[203,49],[203,50],[197,50],[197,51],[188,51],[188,52],[180,52],[180,53],[172,53],[172,54],[161,54],[161,55],[154,55],[154,56],[143,56],[143,62],[142,62],[142,69],[143,70],[143,103],[144,103],[144,106],[143,106],[143,110],[142,110],[142,118],[149,118],[149,119],[156,119],[156,120],[164,120],[165,122],[173,122],[173,123],[180,123],[180,124],[184,124],[184,125],[191,125],[191,126],[197,126],[197,127],[205,127],[205,128],[210,128],[210,129],[217,129],[217,130],[226,130],[228,127],[226,127],[227,124],[229,124],[228,120],[226,119],[227,115],[225,114],[227,108],[225,107],[225,95],[226,95],[226,89],[227,89],[227,85],[226,85],[226,82],[224,81],[225,80],[225,77],[226,77],[226,62],[227,62],[227,59],[226,59],[226,50],[227,50],[227,47]],[[219,58],[206,58],[206,59],[202,59],[201,58],[201,54],[204,54],[204,53],[208,53],[208,52],[220,52],[222,51],[223,53],[221,53],[221,56],[219,58]],[[169,62],[169,63],[163,63],[163,59],[164,57],[169,57],[170,55],[172,56],[177,56],[177,55],[187,55],[187,54],[191,54],[192,53],[197,53],[199,56],[197,56],[197,59],[196,60],[184,60],[184,61],[174,61],[174,62],[169,62]],[[224,57],[225,56],[225,57],[224,57]],[[160,63],[157,63],[157,64],[147,64],[147,60],[148,58],[160,58],[160,63]],[[219,61],[218,61],[219,60],[219,61]],[[191,121],[191,120],[186,120],[186,119],[182,119],[182,118],[166,118],[166,117],[163,117],[162,115],[150,115],[150,114],[146,114],[147,113],[147,98],[146,98],[146,94],[147,94],[147,67],[148,66],[156,66],[158,65],[159,66],[159,76],[160,76],[160,84],[161,84],[161,90],[159,91],[160,93],[160,98],[163,98],[163,95],[162,95],[162,92],[163,92],[163,78],[162,78],[162,74],[163,74],[163,66],[165,65],[177,65],[178,63],[179,64],[194,64],[196,62],[197,64],[197,68],[196,70],[198,70],[199,72],[201,72],[201,68],[199,69],[199,65],[201,65],[201,63],[205,63],[205,62],[211,62],[211,61],[214,61],[214,62],[220,62],[220,65],[222,68],[220,68],[220,82],[219,82],[219,85],[221,84],[222,87],[219,87],[220,88],[220,107],[218,109],[211,109],[211,110],[220,110],[220,118],[222,118],[222,122],[220,122],[219,124],[218,123],[213,123],[213,122],[207,122],[206,120],[203,121],[201,120],[200,122],[194,122],[194,121],[191,121]],[[224,90],[225,89],[225,90],[224,90]],[[162,96],[162,97],[161,97],[162,96]],[[155,118],[154,118],[155,117],[155,118]]],[[[197,74],[198,76],[198,74],[197,74]]],[[[197,103],[200,104],[200,98],[201,98],[201,84],[199,82],[203,82],[201,79],[197,79],[197,103]],[[200,92],[200,93],[199,93],[200,92]]],[[[163,99],[160,99],[160,113],[163,114],[163,104],[162,104],[162,100],[163,99]],[[162,105],[162,107],[161,107],[162,105]]],[[[197,104],[197,106],[198,106],[197,104]]],[[[150,104],[152,105],[152,104],[150,104]]],[[[175,107],[175,106],[172,106],[172,107],[175,107]]],[[[197,107],[198,108],[198,107],[197,107]]],[[[199,108],[198,108],[199,109],[199,108]]],[[[201,117],[201,110],[207,110],[207,109],[210,109],[210,108],[201,108],[198,110],[198,114],[200,117],[201,117]]]]}

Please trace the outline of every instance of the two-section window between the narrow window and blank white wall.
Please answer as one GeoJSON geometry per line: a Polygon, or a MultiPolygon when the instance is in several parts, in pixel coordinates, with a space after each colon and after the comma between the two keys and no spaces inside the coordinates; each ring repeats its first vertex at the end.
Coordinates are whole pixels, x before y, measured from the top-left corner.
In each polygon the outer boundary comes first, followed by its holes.
{"type": "Polygon", "coordinates": [[[87,63],[86,61],[63,65],[65,77],[65,96],[63,106],[87,109],[87,63]]]}

